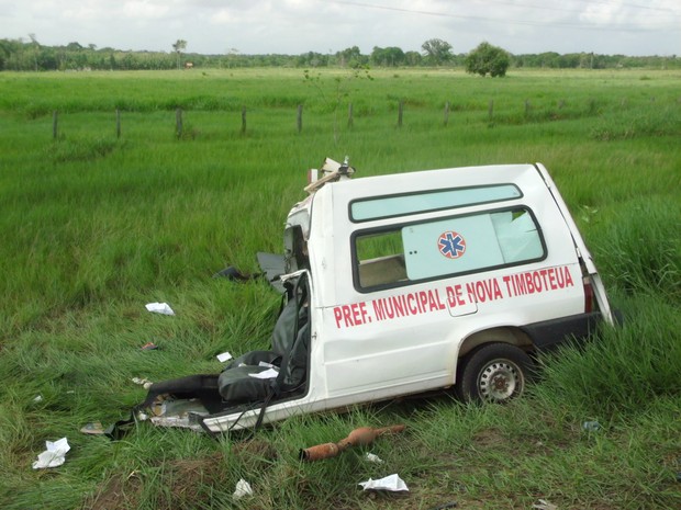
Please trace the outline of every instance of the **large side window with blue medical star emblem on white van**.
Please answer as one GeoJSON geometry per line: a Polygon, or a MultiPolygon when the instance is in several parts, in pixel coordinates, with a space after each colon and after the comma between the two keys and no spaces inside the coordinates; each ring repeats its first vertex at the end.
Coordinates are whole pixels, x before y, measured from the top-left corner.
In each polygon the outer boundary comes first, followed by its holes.
{"type": "Polygon", "coordinates": [[[358,233],[358,290],[386,288],[456,274],[515,265],[546,257],[528,209],[477,213],[358,233]]]}

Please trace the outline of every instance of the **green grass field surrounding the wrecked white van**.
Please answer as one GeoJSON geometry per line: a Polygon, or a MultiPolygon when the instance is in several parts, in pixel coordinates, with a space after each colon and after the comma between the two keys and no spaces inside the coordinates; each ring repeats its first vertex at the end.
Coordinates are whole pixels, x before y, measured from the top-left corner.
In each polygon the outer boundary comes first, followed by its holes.
{"type": "Polygon", "coordinates": [[[306,76],[0,73],[0,507],[681,507],[681,72],[306,76]],[[359,175],[545,163],[625,326],[543,359],[509,406],[413,399],[217,441],[144,422],[118,442],[81,434],[144,398],[133,377],[219,372],[217,353],[266,347],[278,296],[211,276],[281,251],[306,169],[346,155],[359,175]],[[177,315],[149,314],[150,302],[177,315]],[[149,341],[159,349],[142,351],[149,341]],[[392,423],[408,429],[368,449],[384,464],[365,450],[298,460],[392,423]],[[66,463],[32,469],[63,437],[66,463]],[[357,486],[391,473],[409,495],[357,486]],[[255,494],[234,501],[239,478],[255,494]]]}

